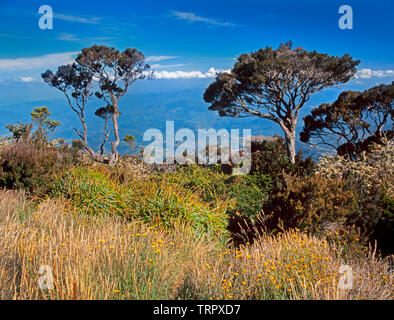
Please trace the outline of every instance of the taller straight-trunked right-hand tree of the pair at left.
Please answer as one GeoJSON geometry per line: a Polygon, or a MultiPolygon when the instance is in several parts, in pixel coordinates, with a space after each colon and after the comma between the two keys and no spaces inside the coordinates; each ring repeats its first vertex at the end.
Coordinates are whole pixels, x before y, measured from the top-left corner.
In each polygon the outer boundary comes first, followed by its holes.
{"type": "Polygon", "coordinates": [[[117,147],[120,143],[118,117],[119,99],[127,92],[130,85],[139,79],[150,79],[153,73],[145,64],[144,55],[137,49],[127,48],[123,52],[115,48],[94,45],[82,49],[77,63],[97,79],[99,91],[96,96],[113,107],[112,122],[115,141],[111,143],[110,165],[119,157],[117,147]]]}

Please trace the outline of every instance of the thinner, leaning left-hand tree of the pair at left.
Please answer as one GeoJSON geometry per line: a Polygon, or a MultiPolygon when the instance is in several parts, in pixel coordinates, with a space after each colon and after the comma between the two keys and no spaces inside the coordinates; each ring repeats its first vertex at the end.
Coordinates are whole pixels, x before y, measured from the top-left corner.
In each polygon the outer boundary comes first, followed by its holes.
{"type": "Polygon", "coordinates": [[[78,137],[83,141],[84,148],[93,159],[97,159],[95,152],[88,146],[88,128],[85,120],[85,111],[92,88],[93,75],[77,64],[60,66],[55,73],[51,70],[41,74],[42,79],[50,86],[63,92],[71,110],[73,110],[82,123],[83,132],[74,128],[78,137]]]}

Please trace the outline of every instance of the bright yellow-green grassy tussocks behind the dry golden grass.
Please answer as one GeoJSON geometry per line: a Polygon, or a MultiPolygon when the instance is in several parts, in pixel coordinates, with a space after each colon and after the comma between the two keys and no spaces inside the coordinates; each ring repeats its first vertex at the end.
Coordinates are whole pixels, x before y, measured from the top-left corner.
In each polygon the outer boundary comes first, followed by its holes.
{"type": "Polygon", "coordinates": [[[164,227],[188,223],[198,232],[225,237],[227,208],[224,199],[205,202],[198,191],[169,180],[158,183],[136,180],[121,184],[98,169],[73,168],[53,185],[51,195],[66,198],[79,213],[139,218],[164,227]]]}

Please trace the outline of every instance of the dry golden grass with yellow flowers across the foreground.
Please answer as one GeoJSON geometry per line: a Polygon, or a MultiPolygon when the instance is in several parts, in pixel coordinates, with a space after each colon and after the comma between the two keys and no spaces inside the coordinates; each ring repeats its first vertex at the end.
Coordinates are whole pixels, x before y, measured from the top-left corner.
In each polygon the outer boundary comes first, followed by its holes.
{"type": "Polygon", "coordinates": [[[394,298],[388,261],[343,255],[297,231],[235,249],[186,226],[81,216],[53,199],[34,208],[23,194],[0,191],[0,233],[0,299],[394,298]],[[352,290],[338,289],[343,264],[352,290]],[[42,265],[53,270],[53,290],[39,289],[42,265]]]}

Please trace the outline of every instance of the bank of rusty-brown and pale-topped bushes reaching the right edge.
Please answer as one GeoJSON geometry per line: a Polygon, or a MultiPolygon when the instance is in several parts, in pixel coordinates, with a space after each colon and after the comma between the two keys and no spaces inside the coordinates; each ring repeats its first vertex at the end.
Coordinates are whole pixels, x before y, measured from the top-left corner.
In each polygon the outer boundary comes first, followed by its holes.
{"type": "Polygon", "coordinates": [[[387,143],[354,161],[322,158],[312,175],[282,173],[264,204],[264,227],[340,233],[349,245],[377,240],[382,253],[392,253],[393,150],[387,143]]]}

